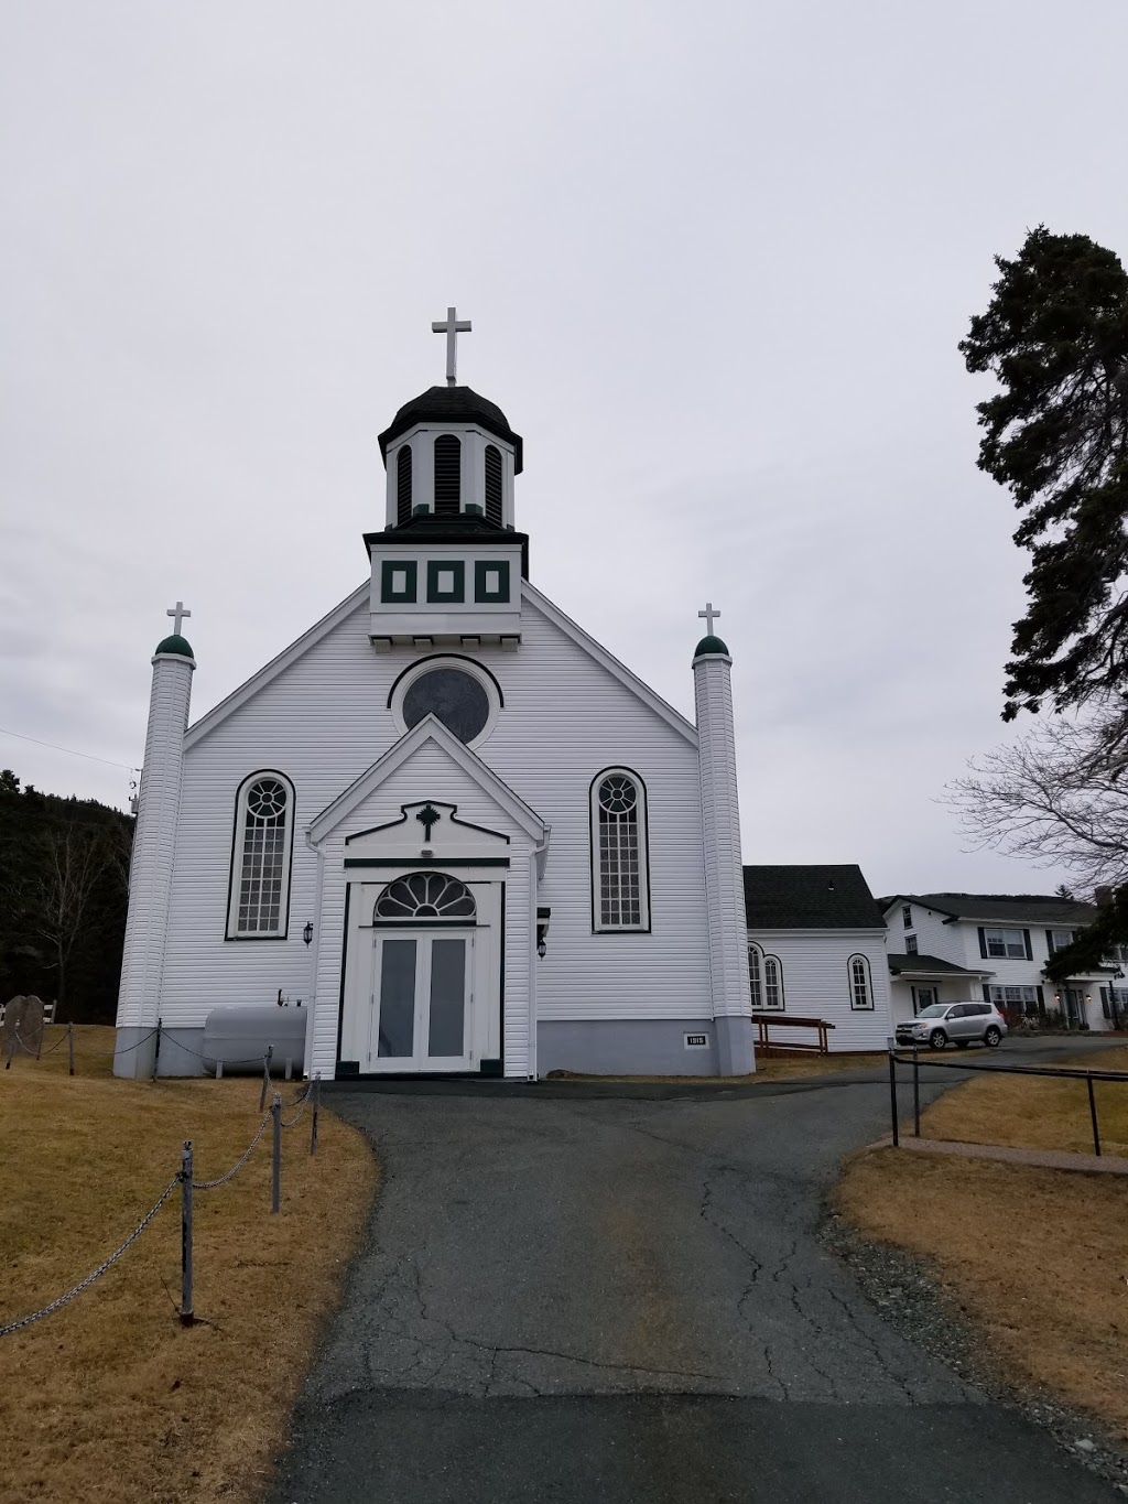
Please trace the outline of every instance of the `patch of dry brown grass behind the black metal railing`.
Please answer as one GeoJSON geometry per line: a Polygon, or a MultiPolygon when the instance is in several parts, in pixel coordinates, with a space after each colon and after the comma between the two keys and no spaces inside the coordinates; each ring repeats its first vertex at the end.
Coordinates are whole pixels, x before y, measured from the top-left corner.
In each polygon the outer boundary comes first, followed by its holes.
{"type": "MultiPolygon", "coordinates": [[[[1093,1092],[1101,1149],[1128,1154],[1128,1050],[1089,1054],[1069,1063],[1125,1072],[1123,1081],[1093,1083],[1093,1092]]],[[[1000,1143],[1014,1149],[1093,1151],[1086,1086],[1072,1078],[984,1072],[946,1092],[922,1113],[920,1133],[925,1139],[1000,1143]]]]}

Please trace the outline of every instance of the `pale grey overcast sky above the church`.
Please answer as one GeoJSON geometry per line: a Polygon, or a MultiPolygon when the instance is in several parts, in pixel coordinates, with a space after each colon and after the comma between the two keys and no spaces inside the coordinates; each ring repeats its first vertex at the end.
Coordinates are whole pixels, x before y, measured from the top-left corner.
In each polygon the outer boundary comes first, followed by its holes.
{"type": "Polygon", "coordinates": [[[1024,609],[955,346],[1039,221],[1128,254],[1126,51],[1123,0],[2,0],[0,725],[140,763],[177,597],[196,717],[353,590],[457,304],[532,581],[689,716],[720,608],[746,862],[1050,890],[934,802],[1024,609]]]}

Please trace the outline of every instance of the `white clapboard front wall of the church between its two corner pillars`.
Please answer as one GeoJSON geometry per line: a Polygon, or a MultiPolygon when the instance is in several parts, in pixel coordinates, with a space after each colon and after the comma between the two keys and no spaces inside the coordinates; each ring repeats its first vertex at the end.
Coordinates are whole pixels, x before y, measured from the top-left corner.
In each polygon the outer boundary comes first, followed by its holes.
{"type": "MultiPolygon", "coordinates": [[[[202,1024],[221,1003],[266,1003],[278,990],[308,1000],[316,987],[317,1059],[328,1059],[326,1050],[335,1051],[340,957],[334,976],[326,937],[335,931],[340,948],[343,890],[338,902],[337,889],[326,883],[317,911],[317,857],[304,832],[399,738],[387,708],[388,692],[396,677],[423,656],[374,653],[367,608],[367,594],[358,593],[355,608],[338,614],[305,651],[245,698],[236,692],[226,713],[203,717],[188,734],[161,996],[167,1026],[202,1024]],[[242,779],[263,769],[284,773],[296,796],[289,937],[227,942],[236,791],[242,779]],[[307,920],[317,929],[308,951],[301,940],[307,920]]],[[[547,955],[534,972],[538,1017],[707,1015],[701,806],[692,726],[647,704],[529,600],[522,609],[520,650],[481,648],[474,657],[489,666],[505,696],[498,725],[477,755],[552,827],[544,880],[535,895],[528,895],[522,916],[531,943],[535,904],[552,908],[547,955]],[[648,935],[591,929],[588,800],[593,778],[609,766],[630,767],[647,784],[648,935]]],[[[403,799],[420,797],[444,796],[420,776],[403,799]]],[[[474,820],[472,797],[468,800],[466,811],[459,812],[474,820]]],[[[496,826],[495,815],[483,818],[483,824],[490,823],[496,826]]],[[[338,854],[326,850],[326,868],[334,860],[338,854]]],[[[508,1020],[507,1008],[507,1027],[508,1020]]],[[[513,1050],[516,1059],[516,1038],[513,1050]]],[[[508,1051],[507,1038],[507,1068],[508,1051]]]]}

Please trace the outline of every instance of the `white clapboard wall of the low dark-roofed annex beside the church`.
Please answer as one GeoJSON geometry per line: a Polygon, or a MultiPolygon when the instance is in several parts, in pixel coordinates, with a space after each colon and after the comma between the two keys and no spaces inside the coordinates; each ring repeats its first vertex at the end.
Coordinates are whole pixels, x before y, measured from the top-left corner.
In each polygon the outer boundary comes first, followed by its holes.
{"type": "MultiPolygon", "coordinates": [[[[766,955],[779,957],[784,966],[785,1009],[800,1018],[826,1018],[833,1024],[829,1036],[836,1050],[884,1050],[893,1032],[889,1005],[889,972],[884,929],[754,929],[749,940],[766,955]],[[851,955],[865,955],[874,985],[872,1012],[850,1006],[851,955]]],[[[775,1018],[776,1015],[773,1015],[775,1018]]],[[[772,1038],[788,1036],[772,1024],[772,1038]]],[[[794,1038],[812,1044],[814,1030],[797,1029],[794,1038]]]]}

